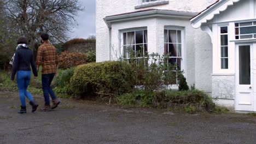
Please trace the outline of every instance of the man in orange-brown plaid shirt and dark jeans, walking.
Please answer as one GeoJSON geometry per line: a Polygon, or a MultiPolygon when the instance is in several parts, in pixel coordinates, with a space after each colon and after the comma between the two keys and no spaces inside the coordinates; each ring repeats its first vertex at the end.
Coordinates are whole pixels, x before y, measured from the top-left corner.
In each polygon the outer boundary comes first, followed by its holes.
{"type": "Polygon", "coordinates": [[[57,75],[58,68],[58,57],[57,51],[53,45],[49,43],[49,35],[47,33],[41,34],[43,44],[39,46],[37,51],[37,70],[39,66],[42,65],[42,88],[44,93],[44,107],[40,109],[41,111],[51,111],[55,109],[59,104],[60,100],[56,97],[53,89],[51,88],[51,81],[53,81],[54,76],[57,75]],[[53,100],[53,105],[50,106],[50,98],[53,100]]]}

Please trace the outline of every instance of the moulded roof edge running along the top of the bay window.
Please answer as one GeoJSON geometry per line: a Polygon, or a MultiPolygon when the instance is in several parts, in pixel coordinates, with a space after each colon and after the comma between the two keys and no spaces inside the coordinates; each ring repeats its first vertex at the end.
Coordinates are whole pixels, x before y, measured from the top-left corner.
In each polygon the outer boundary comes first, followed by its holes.
{"type": "Polygon", "coordinates": [[[129,21],[129,20],[139,20],[149,17],[167,17],[176,19],[191,19],[197,13],[189,13],[185,11],[172,11],[172,10],[160,10],[160,9],[147,9],[141,11],[134,11],[132,13],[124,13],[118,15],[112,15],[104,17],[103,20],[106,22],[107,26],[112,27],[113,22],[129,21]]]}

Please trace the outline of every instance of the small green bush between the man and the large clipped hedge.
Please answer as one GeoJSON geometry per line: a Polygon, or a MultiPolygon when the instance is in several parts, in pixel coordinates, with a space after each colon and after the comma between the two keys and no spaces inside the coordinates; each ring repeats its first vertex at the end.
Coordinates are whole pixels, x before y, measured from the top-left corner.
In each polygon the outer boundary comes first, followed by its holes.
{"type": "Polygon", "coordinates": [[[55,88],[54,91],[61,94],[68,94],[72,95],[73,92],[71,91],[70,86],[70,79],[74,74],[75,68],[70,68],[63,70],[55,80],[55,88]]]}

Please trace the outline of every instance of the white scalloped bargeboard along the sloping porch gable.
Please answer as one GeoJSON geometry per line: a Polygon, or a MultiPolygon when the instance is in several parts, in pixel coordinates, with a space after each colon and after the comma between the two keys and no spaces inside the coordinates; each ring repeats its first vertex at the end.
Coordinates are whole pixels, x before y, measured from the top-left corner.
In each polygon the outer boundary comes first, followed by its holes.
{"type": "Polygon", "coordinates": [[[199,14],[194,16],[190,21],[194,28],[199,28],[203,23],[212,20],[215,15],[220,14],[220,12],[225,11],[229,6],[234,5],[234,3],[240,0],[219,0],[207,7],[207,9],[201,11],[199,14]]]}

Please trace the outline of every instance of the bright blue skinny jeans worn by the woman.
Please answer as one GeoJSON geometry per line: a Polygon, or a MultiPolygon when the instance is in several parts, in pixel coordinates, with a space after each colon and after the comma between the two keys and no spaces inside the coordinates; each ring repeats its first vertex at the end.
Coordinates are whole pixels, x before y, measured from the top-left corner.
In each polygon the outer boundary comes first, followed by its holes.
{"type": "Polygon", "coordinates": [[[17,72],[17,85],[20,93],[21,106],[26,106],[27,97],[30,101],[34,101],[32,95],[27,92],[27,87],[30,84],[31,71],[18,71],[17,72]]]}

